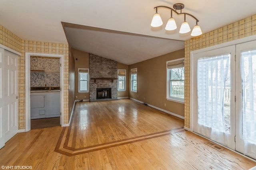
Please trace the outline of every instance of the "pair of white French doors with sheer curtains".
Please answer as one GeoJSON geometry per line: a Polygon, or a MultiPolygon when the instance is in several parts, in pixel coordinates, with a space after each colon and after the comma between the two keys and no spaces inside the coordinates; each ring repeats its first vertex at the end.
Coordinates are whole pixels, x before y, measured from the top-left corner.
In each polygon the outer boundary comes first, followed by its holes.
{"type": "Polygon", "coordinates": [[[193,131],[256,158],[256,41],[193,55],[193,131]]]}

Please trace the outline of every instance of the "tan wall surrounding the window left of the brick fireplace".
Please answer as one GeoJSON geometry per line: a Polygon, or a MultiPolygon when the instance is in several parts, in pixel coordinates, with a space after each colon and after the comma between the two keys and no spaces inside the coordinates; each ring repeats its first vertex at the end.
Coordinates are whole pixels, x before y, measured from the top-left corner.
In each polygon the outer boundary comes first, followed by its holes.
{"type": "MultiPolygon", "coordinates": [[[[80,51],[77,49],[71,49],[72,55],[74,57],[75,63],[75,100],[89,100],[89,92],[88,93],[78,93],[78,68],[88,68],[89,69],[89,53],[84,51],[80,51]],[[77,60],[76,60],[77,59],[77,60]],[[77,96],[77,98],[76,98],[77,96]]],[[[89,70],[90,74],[90,70],[89,70]]]]}

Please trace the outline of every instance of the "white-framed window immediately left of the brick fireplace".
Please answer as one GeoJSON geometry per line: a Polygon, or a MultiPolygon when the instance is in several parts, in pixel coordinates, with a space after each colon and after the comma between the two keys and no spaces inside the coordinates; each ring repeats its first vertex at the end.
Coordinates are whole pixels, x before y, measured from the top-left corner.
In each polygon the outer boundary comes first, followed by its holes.
{"type": "Polygon", "coordinates": [[[89,92],[89,69],[78,68],[78,92],[86,93],[89,92]]]}

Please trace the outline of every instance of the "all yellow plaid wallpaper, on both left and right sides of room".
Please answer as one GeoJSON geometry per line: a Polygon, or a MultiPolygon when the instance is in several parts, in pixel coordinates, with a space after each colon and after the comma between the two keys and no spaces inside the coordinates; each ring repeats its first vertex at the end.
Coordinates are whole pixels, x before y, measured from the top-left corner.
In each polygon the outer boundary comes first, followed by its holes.
{"type": "MultiPolygon", "coordinates": [[[[185,41],[185,127],[190,127],[190,51],[256,34],[256,15],[185,41]]],[[[0,44],[21,53],[19,58],[19,129],[25,129],[25,53],[64,55],[64,124],[68,123],[68,44],[22,40],[0,25],[0,44]]]]}

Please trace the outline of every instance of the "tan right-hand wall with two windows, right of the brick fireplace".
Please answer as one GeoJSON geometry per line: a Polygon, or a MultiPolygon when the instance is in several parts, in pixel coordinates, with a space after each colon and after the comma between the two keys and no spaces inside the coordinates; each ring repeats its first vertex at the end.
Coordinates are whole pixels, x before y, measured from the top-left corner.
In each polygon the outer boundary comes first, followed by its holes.
{"type": "Polygon", "coordinates": [[[129,84],[129,97],[184,116],[184,104],[166,100],[166,61],[183,57],[184,49],[129,65],[129,80],[130,69],[137,68],[137,93],[129,84]]]}

